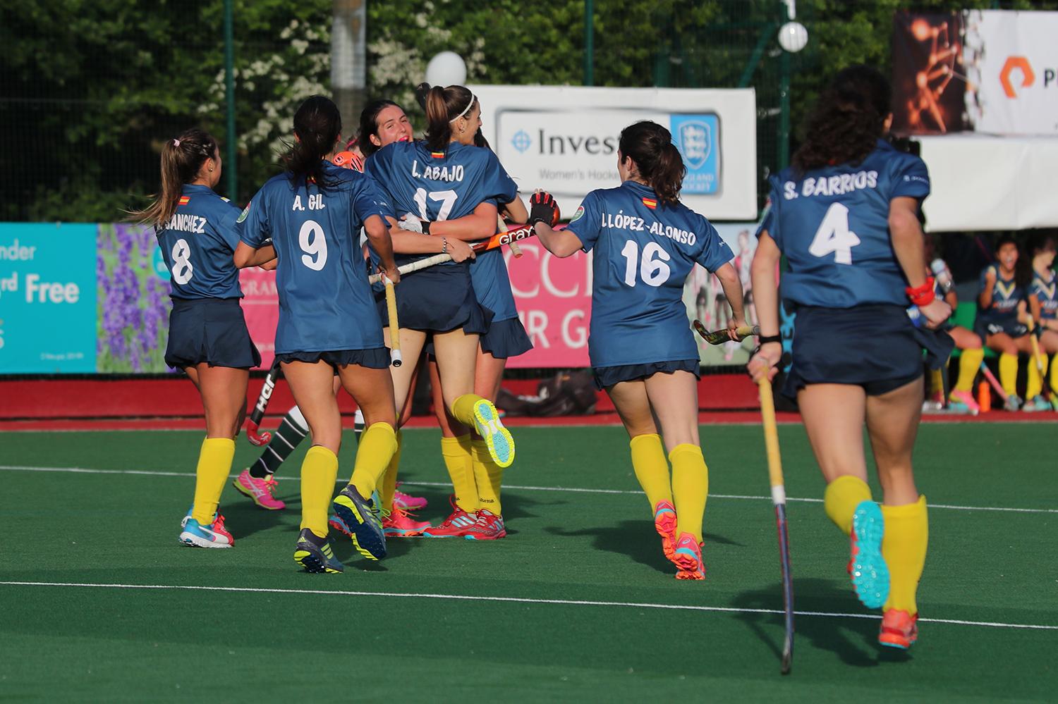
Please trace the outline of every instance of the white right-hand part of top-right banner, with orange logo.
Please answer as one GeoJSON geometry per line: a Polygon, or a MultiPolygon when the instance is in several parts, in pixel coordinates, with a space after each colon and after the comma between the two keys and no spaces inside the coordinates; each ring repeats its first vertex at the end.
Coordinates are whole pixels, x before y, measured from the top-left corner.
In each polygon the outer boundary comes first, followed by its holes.
{"type": "Polygon", "coordinates": [[[1058,134],[1058,13],[969,11],[964,21],[973,129],[1058,134]]]}

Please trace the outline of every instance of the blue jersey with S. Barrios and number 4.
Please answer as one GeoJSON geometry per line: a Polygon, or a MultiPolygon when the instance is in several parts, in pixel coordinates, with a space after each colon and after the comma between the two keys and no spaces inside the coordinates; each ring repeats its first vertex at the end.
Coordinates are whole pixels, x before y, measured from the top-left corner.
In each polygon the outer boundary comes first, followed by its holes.
{"type": "Polygon", "coordinates": [[[889,233],[889,203],[929,194],[923,160],[878,141],[861,163],[798,174],[783,169],[769,179],[769,207],[761,223],[789,267],[783,300],[852,308],[907,305],[908,285],[889,233]]]}

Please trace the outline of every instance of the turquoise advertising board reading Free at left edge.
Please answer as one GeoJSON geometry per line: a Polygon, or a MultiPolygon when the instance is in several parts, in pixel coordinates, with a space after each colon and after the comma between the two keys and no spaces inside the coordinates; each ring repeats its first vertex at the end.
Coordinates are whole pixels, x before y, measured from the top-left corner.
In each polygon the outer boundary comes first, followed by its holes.
{"type": "Polygon", "coordinates": [[[95,372],[95,235],[0,223],[0,373],[95,372]]]}

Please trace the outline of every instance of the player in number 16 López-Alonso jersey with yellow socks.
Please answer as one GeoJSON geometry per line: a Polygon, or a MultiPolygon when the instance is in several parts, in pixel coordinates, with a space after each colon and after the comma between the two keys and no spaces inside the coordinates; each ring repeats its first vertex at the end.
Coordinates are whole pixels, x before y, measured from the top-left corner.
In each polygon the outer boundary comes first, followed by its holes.
{"type": "Polygon", "coordinates": [[[632,466],[665,557],[679,568],[676,578],[704,579],[709,469],[698,440],[700,370],[683,282],[695,262],[716,274],[731,304],[732,339],[746,325],[742,284],[716,228],[678,200],[687,169],[669,130],[652,122],[624,128],[617,168],[621,185],[588,193],[566,229],[550,227],[554,202],[546,193],[530,200],[530,221],[557,257],[595,251],[588,356],[596,385],[628,431],[632,466]]]}

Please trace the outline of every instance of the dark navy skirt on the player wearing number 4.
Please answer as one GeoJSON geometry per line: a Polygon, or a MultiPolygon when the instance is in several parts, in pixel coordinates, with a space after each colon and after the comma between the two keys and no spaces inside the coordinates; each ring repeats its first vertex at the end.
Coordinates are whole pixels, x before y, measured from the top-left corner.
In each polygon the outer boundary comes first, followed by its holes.
{"type": "Polygon", "coordinates": [[[923,350],[928,366],[940,369],[953,348],[951,335],[916,328],[900,305],[800,305],[783,394],[796,397],[809,384],[849,384],[880,395],[923,375],[923,350]]]}

